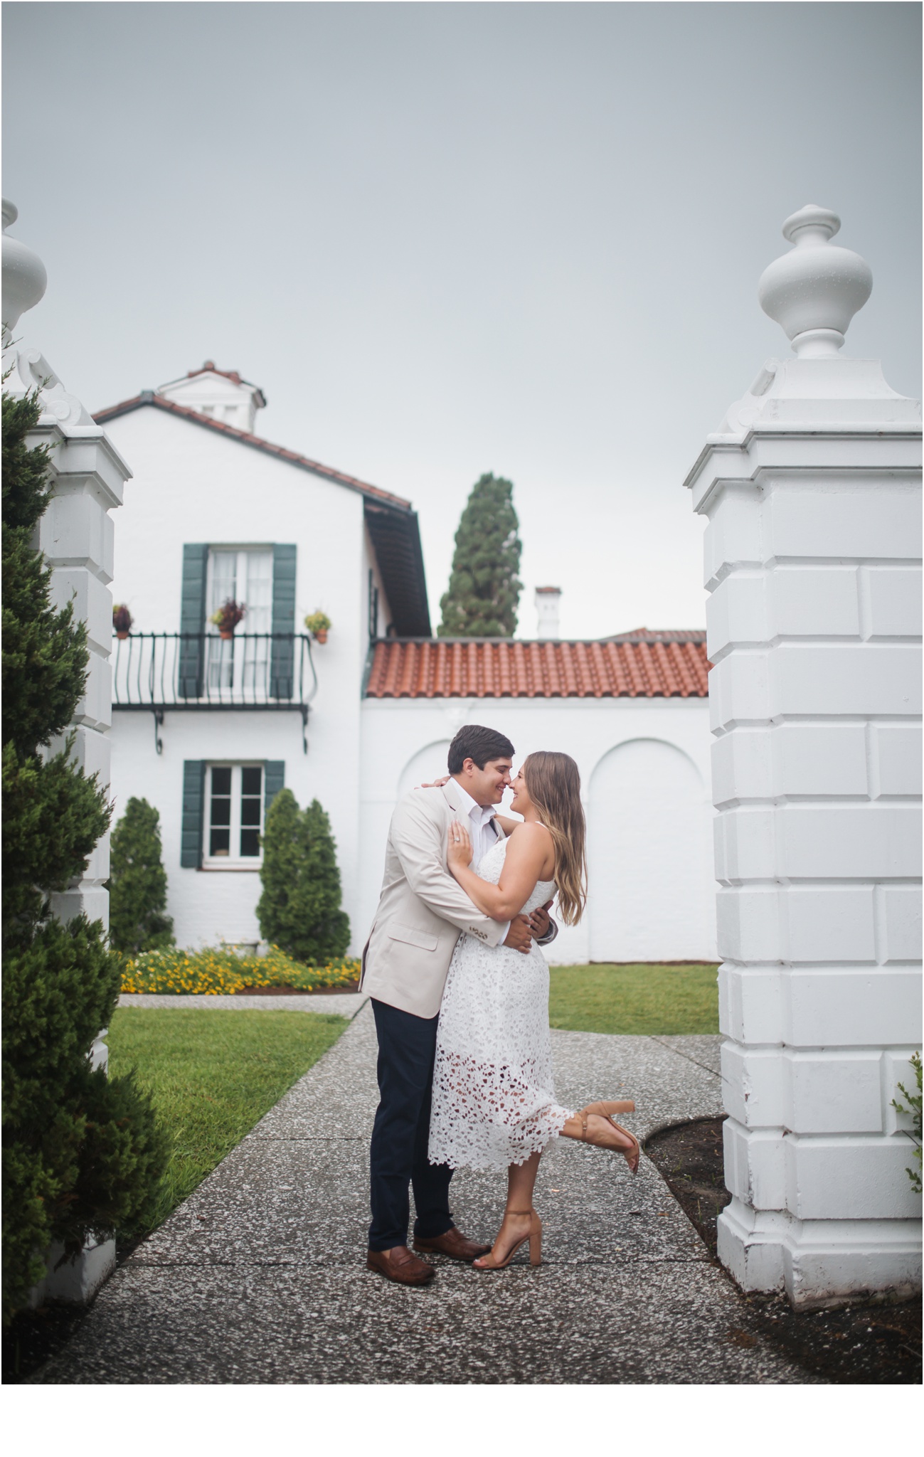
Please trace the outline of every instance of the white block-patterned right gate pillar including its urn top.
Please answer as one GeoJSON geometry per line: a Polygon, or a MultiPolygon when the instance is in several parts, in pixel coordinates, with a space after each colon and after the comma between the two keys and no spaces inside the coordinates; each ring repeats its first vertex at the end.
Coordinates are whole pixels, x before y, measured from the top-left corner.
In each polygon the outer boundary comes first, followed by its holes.
{"type": "Polygon", "coordinates": [[[838,350],[872,275],[806,207],[761,278],[793,342],[691,471],[705,584],[726,1183],[719,1254],[796,1304],[921,1279],[920,407],[838,350]]]}

